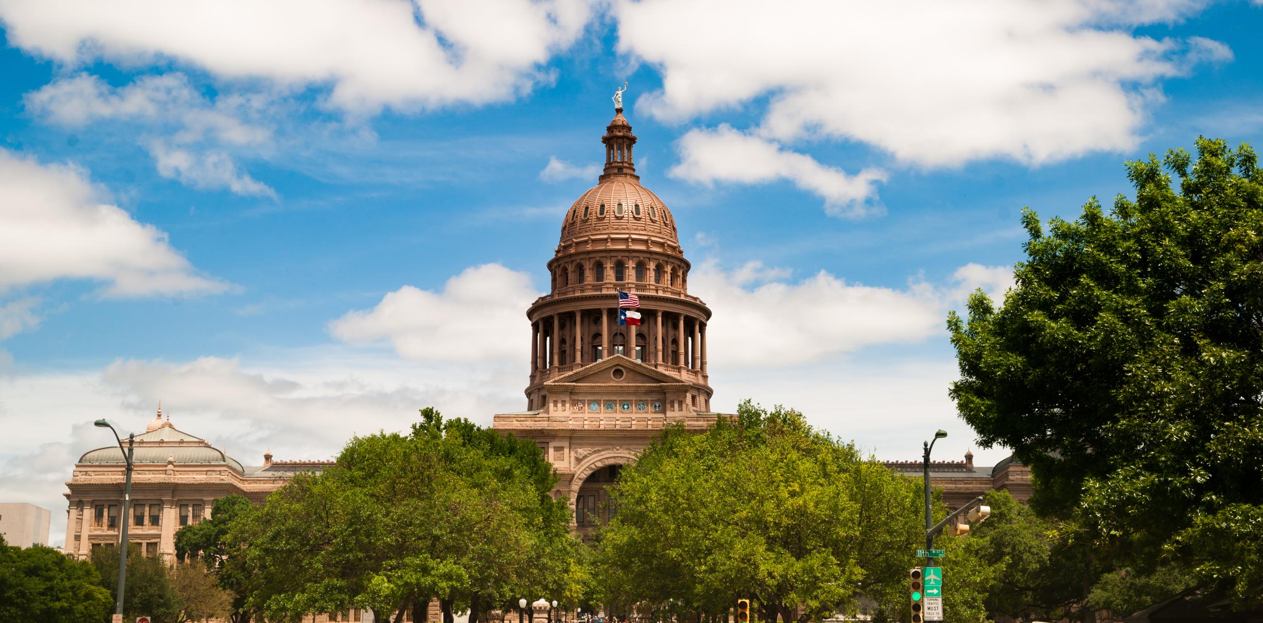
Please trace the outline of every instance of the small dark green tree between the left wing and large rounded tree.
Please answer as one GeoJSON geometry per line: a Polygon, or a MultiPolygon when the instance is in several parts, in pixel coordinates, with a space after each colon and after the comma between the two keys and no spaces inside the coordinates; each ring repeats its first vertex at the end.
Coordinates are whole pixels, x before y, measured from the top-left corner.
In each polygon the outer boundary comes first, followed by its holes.
{"type": "Polygon", "coordinates": [[[201,559],[215,574],[216,585],[232,595],[229,619],[246,623],[255,610],[246,604],[249,578],[242,566],[244,543],[230,538],[235,523],[258,512],[242,495],[227,495],[215,500],[211,518],[184,526],[176,532],[176,557],[181,561],[201,559]]]}

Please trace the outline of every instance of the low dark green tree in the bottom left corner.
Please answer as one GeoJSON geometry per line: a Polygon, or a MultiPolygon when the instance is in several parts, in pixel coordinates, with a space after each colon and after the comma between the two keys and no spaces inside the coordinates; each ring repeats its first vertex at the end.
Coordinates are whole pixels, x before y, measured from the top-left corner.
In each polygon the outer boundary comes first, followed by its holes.
{"type": "Polygon", "coordinates": [[[81,623],[112,612],[110,591],[87,561],[52,547],[8,546],[0,536],[0,620],[81,623]]]}

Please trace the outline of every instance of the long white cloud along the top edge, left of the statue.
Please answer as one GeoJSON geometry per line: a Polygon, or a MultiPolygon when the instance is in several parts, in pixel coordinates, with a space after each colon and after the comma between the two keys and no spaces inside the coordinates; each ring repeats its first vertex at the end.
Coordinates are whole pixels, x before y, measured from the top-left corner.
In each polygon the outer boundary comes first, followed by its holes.
{"type": "Polygon", "coordinates": [[[551,80],[543,63],[590,13],[585,0],[0,0],[9,44],[30,53],[328,86],[350,111],[510,101],[551,80]]]}

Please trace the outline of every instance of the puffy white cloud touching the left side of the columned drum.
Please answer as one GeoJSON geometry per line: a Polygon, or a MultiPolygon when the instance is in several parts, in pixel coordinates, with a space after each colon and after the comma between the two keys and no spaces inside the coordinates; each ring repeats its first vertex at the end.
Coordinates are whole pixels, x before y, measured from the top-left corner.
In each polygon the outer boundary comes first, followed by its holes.
{"type": "Polygon", "coordinates": [[[529,274],[484,264],[452,277],[442,292],[404,286],[373,310],[330,322],[330,332],[352,344],[389,341],[404,359],[527,361],[524,311],[539,294],[529,274]]]}

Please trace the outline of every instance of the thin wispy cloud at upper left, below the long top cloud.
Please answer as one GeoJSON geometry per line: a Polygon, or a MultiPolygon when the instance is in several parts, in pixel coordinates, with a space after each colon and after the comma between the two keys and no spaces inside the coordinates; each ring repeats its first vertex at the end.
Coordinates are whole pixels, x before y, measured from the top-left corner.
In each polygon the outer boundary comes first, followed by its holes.
{"type": "Polygon", "coordinates": [[[141,145],[153,155],[160,176],[193,188],[277,196],[239,171],[229,153],[270,147],[273,131],[265,119],[277,112],[265,96],[224,95],[211,101],[182,73],[141,76],[117,88],[81,73],[27,94],[25,104],[37,115],[68,128],[109,120],[135,125],[144,134],[163,134],[143,139],[141,145]]]}

